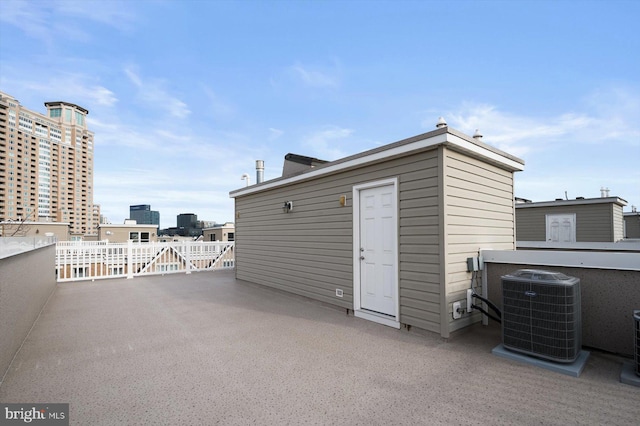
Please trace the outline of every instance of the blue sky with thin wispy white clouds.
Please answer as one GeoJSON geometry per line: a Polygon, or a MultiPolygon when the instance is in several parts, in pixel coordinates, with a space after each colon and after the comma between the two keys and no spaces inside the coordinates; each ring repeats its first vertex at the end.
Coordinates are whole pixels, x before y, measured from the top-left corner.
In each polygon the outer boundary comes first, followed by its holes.
{"type": "Polygon", "coordinates": [[[94,202],[233,221],[243,173],[450,127],[525,160],[516,195],[640,207],[637,1],[0,2],[0,90],[89,110],[94,202]]]}

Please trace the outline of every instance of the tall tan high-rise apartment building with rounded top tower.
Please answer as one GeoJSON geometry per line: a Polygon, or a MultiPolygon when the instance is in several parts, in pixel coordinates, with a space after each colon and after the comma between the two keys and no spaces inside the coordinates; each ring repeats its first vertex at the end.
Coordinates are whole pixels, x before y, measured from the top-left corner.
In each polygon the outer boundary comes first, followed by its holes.
{"type": "Polygon", "coordinates": [[[0,221],[66,222],[72,236],[97,234],[89,111],[44,105],[41,114],[0,92],[0,221]]]}

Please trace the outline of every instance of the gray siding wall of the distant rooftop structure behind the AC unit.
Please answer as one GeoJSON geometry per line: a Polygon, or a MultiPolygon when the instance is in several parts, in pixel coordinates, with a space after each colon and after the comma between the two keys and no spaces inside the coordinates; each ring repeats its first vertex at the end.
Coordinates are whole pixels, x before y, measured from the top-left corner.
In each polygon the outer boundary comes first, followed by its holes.
{"type": "Polygon", "coordinates": [[[614,242],[614,220],[619,221],[616,226],[622,226],[621,220],[614,218],[611,203],[517,208],[518,241],[545,241],[545,216],[561,213],[575,213],[576,242],[614,242]]]}

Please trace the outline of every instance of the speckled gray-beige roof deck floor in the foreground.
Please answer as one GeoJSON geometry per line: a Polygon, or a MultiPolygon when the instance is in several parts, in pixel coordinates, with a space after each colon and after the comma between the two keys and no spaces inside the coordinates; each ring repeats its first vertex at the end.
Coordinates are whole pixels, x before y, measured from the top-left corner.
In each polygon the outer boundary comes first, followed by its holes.
{"type": "Polygon", "coordinates": [[[637,424],[640,388],[592,352],[578,378],[234,278],[58,284],[0,401],[70,403],[71,424],[637,424]]]}

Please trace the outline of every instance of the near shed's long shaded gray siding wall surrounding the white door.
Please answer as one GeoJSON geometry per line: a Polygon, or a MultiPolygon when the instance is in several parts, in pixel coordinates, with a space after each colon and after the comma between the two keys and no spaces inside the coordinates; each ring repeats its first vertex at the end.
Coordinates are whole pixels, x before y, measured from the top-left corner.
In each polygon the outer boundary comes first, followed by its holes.
{"type": "Polygon", "coordinates": [[[437,152],[236,197],[237,278],[353,309],[352,187],[398,177],[400,321],[439,332],[437,152]]]}

